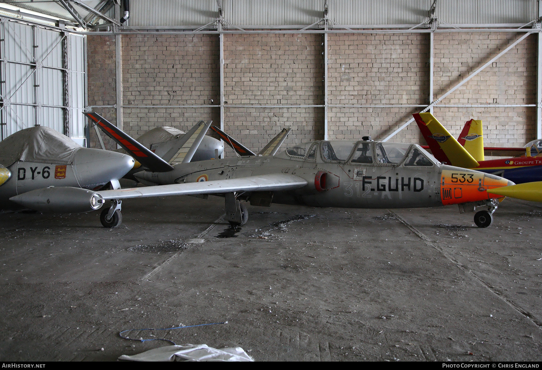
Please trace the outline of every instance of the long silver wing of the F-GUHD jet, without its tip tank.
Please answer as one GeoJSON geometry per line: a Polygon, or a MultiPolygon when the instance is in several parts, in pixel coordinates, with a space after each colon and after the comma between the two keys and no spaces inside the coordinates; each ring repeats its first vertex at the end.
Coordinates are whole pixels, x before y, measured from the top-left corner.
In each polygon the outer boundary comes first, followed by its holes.
{"type": "Polygon", "coordinates": [[[182,184],[157,185],[141,188],[104,190],[99,193],[104,199],[127,199],[149,196],[221,194],[232,192],[274,192],[302,188],[307,180],[295,175],[269,174],[228,180],[188,182],[182,184]]]}

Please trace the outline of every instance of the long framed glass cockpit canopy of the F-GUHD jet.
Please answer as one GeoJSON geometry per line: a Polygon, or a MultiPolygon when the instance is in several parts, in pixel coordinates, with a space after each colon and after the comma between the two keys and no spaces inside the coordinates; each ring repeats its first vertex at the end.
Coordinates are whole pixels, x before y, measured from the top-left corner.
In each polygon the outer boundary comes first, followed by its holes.
{"type": "Polygon", "coordinates": [[[286,149],[285,157],[316,160],[318,148],[324,162],[349,164],[390,164],[431,167],[438,163],[433,156],[416,144],[369,141],[319,141],[294,145],[286,149]],[[406,157],[406,159],[405,159],[406,157]]]}

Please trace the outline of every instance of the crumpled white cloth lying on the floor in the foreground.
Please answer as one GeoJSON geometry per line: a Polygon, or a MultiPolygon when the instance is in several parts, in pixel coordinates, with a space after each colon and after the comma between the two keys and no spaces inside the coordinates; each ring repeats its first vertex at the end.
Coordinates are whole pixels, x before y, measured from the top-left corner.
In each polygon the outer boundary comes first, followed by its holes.
{"type": "Polygon", "coordinates": [[[241,347],[216,349],[207,345],[166,346],[137,355],[122,355],[129,361],[254,361],[241,347]]]}

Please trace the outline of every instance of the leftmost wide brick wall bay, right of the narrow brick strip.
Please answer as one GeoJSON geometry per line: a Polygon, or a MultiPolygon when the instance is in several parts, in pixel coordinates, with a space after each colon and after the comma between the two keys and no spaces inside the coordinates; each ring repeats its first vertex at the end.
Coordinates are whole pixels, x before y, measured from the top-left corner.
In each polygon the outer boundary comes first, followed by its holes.
{"type": "Polygon", "coordinates": [[[122,36],[124,129],[137,137],[156,126],[189,130],[198,120],[220,124],[215,35],[122,36]],[[212,102],[211,102],[212,100],[212,102]],[[138,105],[173,107],[137,107],[138,105]]]}

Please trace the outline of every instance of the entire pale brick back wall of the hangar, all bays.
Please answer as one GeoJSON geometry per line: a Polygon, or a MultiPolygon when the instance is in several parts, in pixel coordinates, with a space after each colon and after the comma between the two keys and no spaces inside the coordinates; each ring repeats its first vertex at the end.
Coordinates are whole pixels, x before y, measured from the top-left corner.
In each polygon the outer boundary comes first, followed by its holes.
{"type": "MultiPolygon", "coordinates": [[[[500,33],[435,34],[434,98],[516,37],[500,33]]],[[[527,37],[442,103],[535,103],[536,37],[527,37]]],[[[225,130],[255,151],[285,126],[293,129],[287,144],[323,138],[322,107],[240,106],[323,104],[322,42],[319,34],[224,35],[224,93],[229,105],[224,111],[225,130]]],[[[217,35],[122,36],[122,48],[123,98],[130,106],[124,108],[124,127],[130,135],[141,135],[157,125],[187,130],[199,119],[220,123],[220,110],[208,106],[211,99],[212,104],[220,101],[217,35]]],[[[428,103],[428,34],[330,34],[328,48],[330,139],[365,135],[382,139],[422,109],[364,105],[428,103]]],[[[114,104],[114,39],[89,36],[88,50],[89,104],[114,104]]],[[[114,122],[114,109],[103,112],[114,122]]],[[[454,135],[468,119],[482,119],[488,144],[513,146],[535,135],[534,107],[441,106],[434,112],[454,135]]],[[[424,143],[415,124],[392,141],[424,143]]]]}

